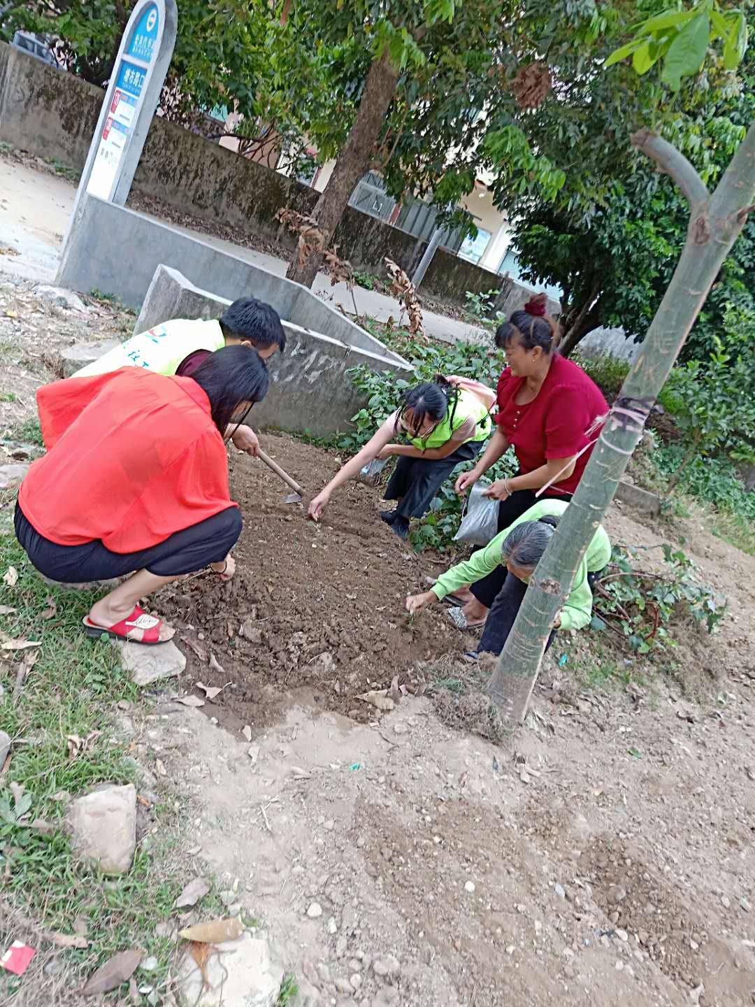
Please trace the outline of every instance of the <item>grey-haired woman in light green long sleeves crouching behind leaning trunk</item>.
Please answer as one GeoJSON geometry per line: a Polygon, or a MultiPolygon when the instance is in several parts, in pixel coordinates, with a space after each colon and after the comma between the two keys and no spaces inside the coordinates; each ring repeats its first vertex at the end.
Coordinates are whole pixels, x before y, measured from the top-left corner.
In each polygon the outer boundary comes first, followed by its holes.
{"type": "MultiPolygon", "coordinates": [[[[545,553],[559,520],[570,506],[568,500],[544,498],[525,511],[508,528],[472,553],[464,563],[457,563],[441,574],[429,591],[410,594],[406,607],[411,615],[421,612],[428,605],[442,601],[462,584],[471,584],[472,593],[489,609],[479,645],[467,657],[480,654],[500,654],[511,631],[516,613],[524,599],[530,578],[545,553]],[[505,567],[503,586],[498,574],[505,567]]],[[[611,559],[611,543],[605,529],[598,525],[587,552],[582,558],[572,581],[569,597],[556,616],[557,629],[581,629],[592,617],[592,588],[611,559]]],[[[454,609],[458,611],[458,609],[454,609]]],[[[553,641],[553,632],[548,646],[553,641]]]]}

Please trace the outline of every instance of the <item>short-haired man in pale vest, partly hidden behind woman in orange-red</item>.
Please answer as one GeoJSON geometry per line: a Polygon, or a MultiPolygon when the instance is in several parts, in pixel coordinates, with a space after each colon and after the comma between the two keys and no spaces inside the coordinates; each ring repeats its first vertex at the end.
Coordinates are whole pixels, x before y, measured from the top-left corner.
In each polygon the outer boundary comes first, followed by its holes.
{"type": "MultiPolygon", "coordinates": [[[[286,348],[286,333],[275,308],[256,297],[240,297],[219,318],[172,318],[145,332],[132,335],[73,378],[110,374],[119,368],[147,368],[161,375],[190,378],[216,349],[242,345],[256,349],[263,361],[286,348]]],[[[234,428],[233,441],[240,451],[253,457],[260,450],[254,430],[242,424],[234,428]]]]}

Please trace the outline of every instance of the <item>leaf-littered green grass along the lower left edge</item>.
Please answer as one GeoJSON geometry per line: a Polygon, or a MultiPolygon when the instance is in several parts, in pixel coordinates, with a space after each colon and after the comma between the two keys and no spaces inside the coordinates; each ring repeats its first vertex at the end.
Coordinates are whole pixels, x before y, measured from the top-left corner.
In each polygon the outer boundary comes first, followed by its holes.
{"type": "MultiPolygon", "coordinates": [[[[127,757],[125,744],[112,743],[108,728],[114,704],[137,700],[137,689],[120,668],[116,649],[82,633],[81,619],[94,596],[46,585],[17,545],[11,519],[6,503],[0,512],[0,578],[13,567],[18,580],[3,587],[3,603],[15,611],[0,616],[0,627],[11,637],[42,645],[17,704],[13,687],[24,652],[4,652],[7,660],[0,662],[0,724],[13,740],[8,771],[0,779],[0,873],[8,908],[0,912],[0,938],[5,948],[18,936],[14,914],[45,932],[63,933],[72,933],[81,917],[90,947],[59,952],[67,968],[88,975],[116,952],[139,946],[158,959],[149,983],[159,985],[174,946],[157,936],[155,926],[170,915],[177,883],[162,879],[140,846],[128,874],[104,878],[73,858],[62,828],[66,794],[78,796],[106,781],[136,782],[136,763],[127,757]],[[94,731],[103,733],[71,758],[66,736],[86,738],[94,731]],[[18,787],[23,787],[20,797],[18,787]],[[28,817],[18,821],[25,806],[28,817]],[[49,833],[29,828],[35,819],[48,823],[49,833]]],[[[41,968],[36,974],[40,984],[46,982],[41,968]]],[[[28,975],[19,980],[0,974],[0,1002],[18,997],[19,1003],[32,1003],[29,983],[28,975]]],[[[111,996],[115,1000],[117,993],[111,996]]]]}

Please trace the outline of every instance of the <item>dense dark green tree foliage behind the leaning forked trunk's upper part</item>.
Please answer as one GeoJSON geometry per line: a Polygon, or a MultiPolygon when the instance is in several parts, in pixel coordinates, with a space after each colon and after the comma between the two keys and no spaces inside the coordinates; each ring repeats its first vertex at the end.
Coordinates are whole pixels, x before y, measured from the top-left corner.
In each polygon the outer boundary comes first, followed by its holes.
{"type": "MultiPolygon", "coordinates": [[[[702,83],[687,112],[661,117],[661,132],[706,183],[715,184],[755,114],[755,55],[748,50],[737,79],[727,73],[717,86],[708,77],[702,83]]],[[[524,278],[564,291],[567,352],[600,325],[621,325],[642,338],[687,237],[686,203],[667,176],[631,157],[608,181],[593,212],[579,201],[554,205],[533,192],[513,222],[524,278]]],[[[686,356],[707,358],[730,304],[755,307],[754,243],[755,224],[748,222],[686,343],[686,356]]]]}

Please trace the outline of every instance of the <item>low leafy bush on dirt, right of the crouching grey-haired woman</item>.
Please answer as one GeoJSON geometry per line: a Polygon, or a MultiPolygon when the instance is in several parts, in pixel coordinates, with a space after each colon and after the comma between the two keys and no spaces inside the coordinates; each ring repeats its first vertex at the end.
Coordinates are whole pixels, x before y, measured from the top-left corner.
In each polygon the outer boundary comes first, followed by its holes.
{"type": "Polygon", "coordinates": [[[611,628],[638,654],[675,646],[667,626],[678,615],[691,615],[713,632],[726,610],[724,595],[699,579],[698,567],[685,553],[661,548],[663,569],[643,571],[632,563],[641,547],[615,546],[611,572],[595,590],[592,628],[611,628]]]}

